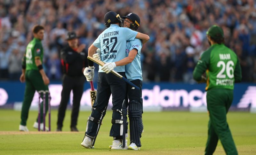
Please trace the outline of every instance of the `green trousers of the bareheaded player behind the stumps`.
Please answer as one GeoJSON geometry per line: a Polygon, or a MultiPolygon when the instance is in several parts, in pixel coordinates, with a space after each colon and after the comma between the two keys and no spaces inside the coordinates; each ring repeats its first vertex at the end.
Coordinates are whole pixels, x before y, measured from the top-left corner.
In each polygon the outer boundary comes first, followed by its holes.
{"type": "MultiPolygon", "coordinates": [[[[21,108],[21,121],[20,125],[26,126],[28,119],[28,111],[33,100],[35,91],[39,90],[49,90],[48,86],[44,85],[44,81],[42,79],[42,75],[38,70],[28,70],[25,73],[26,86],[25,86],[25,94],[24,100],[21,108]]],[[[43,94],[41,95],[43,99],[43,94]]],[[[42,101],[42,100],[41,100],[42,101]]],[[[43,103],[43,101],[42,101],[43,103]]],[[[43,104],[41,103],[41,121],[43,122],[43,104]]],[[[48,93],[45,94],[45,110],[48,111],[48,93]]],[[[36,119],[37,121],[37,119],[36,119]]]]}

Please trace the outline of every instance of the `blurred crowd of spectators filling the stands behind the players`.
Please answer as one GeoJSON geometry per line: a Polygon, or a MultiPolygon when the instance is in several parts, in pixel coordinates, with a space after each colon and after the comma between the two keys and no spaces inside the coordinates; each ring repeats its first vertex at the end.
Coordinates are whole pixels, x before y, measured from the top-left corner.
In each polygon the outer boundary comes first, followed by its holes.
{"type": "Polygon", "coordinates": [[[256,82],[256,3],[254,0],[0,0],[0,78],[18,80],[32,27],[45,27],[44,68],[61,79],[60,49],[76,31],[86,50],[115,11],[140,17],[139,32],[150,40],[141,50],[143,81],[194,83],[192,72],[209,44],[207,29],[221,26],[225,44],[239,57],[244,82],[256,82]]]}

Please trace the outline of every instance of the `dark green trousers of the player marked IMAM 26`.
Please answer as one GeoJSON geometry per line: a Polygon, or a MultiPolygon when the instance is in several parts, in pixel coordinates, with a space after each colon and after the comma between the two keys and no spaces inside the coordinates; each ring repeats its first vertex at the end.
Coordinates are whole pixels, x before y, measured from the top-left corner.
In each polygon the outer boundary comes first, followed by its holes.
{"type": "Polygon", "coordinates": [[[219,139],[226,154],[238,154],[226,116],[233,101],[233,90],[210,89],[207,91],[206,100],[210,120],[205,155],[213,154],[219,139]]]}

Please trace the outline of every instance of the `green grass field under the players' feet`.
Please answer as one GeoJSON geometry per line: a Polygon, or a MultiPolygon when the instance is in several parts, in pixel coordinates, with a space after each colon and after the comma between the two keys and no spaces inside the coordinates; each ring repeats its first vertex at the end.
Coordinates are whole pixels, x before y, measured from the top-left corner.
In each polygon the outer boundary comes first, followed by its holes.
{"type": "MultiPolygon", "coordinates": [[[[95,149],[80,145],[90,112],[80,112],[78,133],[69,132],[70,111],[66,112],[63,132],[56,133],[57,111],[52,111],[53,132],[32,128],[37,112],[30,111],[28,129],[19,132],[20,112],[0,110],[0,154],[204,154],[207,138],[207,113],[144,112],[140,151],[110,150],[111,111],[108,110],[95,143],[95,149]]],[[[256,154],[256,114],[229,112],[228,123],[239,154],[256,154]]],[[[220,141],[215,154],[225,154],[220,141]]]]}

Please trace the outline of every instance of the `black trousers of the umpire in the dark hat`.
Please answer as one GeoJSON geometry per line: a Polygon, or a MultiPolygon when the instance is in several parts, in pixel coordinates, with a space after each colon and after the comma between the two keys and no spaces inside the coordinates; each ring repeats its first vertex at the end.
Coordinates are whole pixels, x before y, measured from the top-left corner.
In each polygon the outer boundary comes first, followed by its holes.
{"type": "Polygon", "coordinates": [[[73,106],[71,113],[71,127],[76,127],[77,118],[79,113],[80,101],[84,92],[84,76],[70,77],[68,75],[63,76],[61,101],[58,110],[57,128],[62,128],[63,120],[65,117],[68,100],[71,90],[73,90],[73,106]]]}

